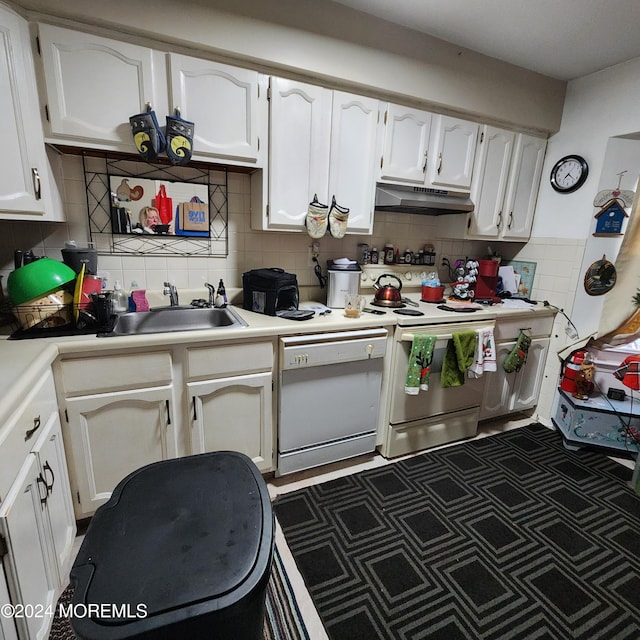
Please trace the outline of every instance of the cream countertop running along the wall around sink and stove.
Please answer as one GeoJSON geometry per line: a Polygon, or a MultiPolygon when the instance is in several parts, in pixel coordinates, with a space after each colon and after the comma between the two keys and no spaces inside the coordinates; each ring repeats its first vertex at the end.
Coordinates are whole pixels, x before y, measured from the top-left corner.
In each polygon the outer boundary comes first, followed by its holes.
{"type": "MultiPolygon", "coordinates": [[[[405,326],[420,324],[438,324],[443,322],[468,322],[492,320],[510,316],[523,316],[531,313],[554,315],[551,308],[542,304],[528,308],[510,308],[496,304],[486,306],[473,313],[451,313],[437,308],[437,305],[419,301],[419,294],[409,293],[407,297],[418,302],[418,307],[409,307],[422,311],[424,316],[402,316],[405,326]]],[[[367,301],[369,298],[367,297],[367,301]]],[[[303,308],[305,303],[301,303],[303,308]]],[[[99,353],[116,349],[145,349],[177,344],[201,342],[274,338],[280,335],[321,333],[365,329],[374,327],[392,328],[400,316],[386,309],[384,315],[363,313],[360,318],[347,318],[342,309],[333,309],[325,316],[314,316],[310,320],[296,321],[266,316],[241,307],[233,306],[249,326],[224,330],[178,331],[146,335],[98,338],[95,335],[39,338],[29,340],[0,340],[0,383],[3,395],[0,401],[0,424],[14,410],[24,390],[32,386],[59,354],[99,353]]]]}

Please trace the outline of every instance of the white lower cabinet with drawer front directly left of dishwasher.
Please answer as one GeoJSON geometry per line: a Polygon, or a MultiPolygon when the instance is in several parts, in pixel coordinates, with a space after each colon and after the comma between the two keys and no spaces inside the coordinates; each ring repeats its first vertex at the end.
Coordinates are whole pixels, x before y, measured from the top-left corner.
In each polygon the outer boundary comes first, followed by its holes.
{"type": "Polygon", "coordinates": [[[240,451],[260,471],[272,471],[273,343],[205,346],[187,352],[190,453],[240,451]]]}

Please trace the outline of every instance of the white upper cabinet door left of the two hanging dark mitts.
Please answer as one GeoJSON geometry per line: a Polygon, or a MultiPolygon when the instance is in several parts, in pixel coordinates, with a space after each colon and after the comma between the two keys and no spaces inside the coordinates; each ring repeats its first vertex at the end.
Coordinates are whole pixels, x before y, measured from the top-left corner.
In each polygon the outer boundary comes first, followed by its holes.
{"type": "Polygon", "coordinates": [[[137,154],[129,117],[147,103],[168,112],[164,54],[45,24],[39,34],[48,136],[137,154]]]}

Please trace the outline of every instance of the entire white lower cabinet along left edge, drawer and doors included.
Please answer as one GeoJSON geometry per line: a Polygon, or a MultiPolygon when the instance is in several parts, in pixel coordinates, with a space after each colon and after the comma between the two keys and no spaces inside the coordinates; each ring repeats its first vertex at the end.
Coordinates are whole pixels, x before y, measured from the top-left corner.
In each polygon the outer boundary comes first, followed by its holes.
{"type": "Polygon", "coordinates": [[[2,467],[18,471],[10,486],[7,475],[0,478],[0,604],[8,599],[14,606],[34,606],[40,615],[5,618],[0,631],[5,638],[44,640],[51,608],[67,582],[76,533],[50,372],[1,434],[2,467]]]}

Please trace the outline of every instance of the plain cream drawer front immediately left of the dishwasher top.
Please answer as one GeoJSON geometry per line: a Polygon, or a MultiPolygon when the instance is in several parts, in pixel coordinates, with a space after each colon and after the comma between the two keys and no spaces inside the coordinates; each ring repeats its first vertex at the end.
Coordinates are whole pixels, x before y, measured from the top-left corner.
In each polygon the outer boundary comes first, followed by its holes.
{"type": "Polygon", "coordinates": [[[187,349],[188,378],[219,378],[227,375],[272,370],[272,342],[226,344],[187,349]]]}

